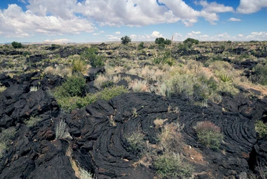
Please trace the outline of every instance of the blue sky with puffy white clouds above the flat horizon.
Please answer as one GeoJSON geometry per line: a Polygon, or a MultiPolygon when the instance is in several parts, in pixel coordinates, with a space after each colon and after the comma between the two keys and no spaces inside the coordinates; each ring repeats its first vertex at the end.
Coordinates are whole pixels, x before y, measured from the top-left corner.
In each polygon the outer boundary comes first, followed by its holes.
{"type": "Polygon", "coordinates": [[[0,43],[267,40],[267,0],[1,0],[0,43]]]}

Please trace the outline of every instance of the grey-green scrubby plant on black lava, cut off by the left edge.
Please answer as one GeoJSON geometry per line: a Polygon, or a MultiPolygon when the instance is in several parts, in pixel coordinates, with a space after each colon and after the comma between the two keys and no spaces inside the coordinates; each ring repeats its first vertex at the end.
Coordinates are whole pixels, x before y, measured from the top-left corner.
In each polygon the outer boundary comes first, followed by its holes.
{"type": "Polygon", "coordinates": [[[15,134],[15,127],[10,127],[6,130],[2,130],[2,132],[0,133],[0,159],[6,153],[6,150],[8,150],[8,144],[10,143],[10,140],[15,137],[15,134]]]}

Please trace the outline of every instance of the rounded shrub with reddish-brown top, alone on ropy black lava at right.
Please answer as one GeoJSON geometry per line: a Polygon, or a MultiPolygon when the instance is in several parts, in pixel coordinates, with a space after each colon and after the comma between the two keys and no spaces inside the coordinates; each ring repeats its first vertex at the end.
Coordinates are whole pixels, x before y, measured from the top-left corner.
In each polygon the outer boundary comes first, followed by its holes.
{"type": "Polygon", "coordinates": [[[219,149],[222,139],[224,138],[220,128],[210,121],[197,123],[195,126],[199,143],[213,149],[219,149]]]}

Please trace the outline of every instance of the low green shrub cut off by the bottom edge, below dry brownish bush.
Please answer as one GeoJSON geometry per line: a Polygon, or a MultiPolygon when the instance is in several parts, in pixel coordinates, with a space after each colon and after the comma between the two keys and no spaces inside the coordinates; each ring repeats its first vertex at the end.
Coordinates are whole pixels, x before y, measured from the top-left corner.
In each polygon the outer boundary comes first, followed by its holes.
{"type": "Polygon", "coordinates": [[[190,178],[194,168],[192,165],[183,162],[181,155],[177,153],[165,153],[157,157],[154,161],[154,166],[157,170],[157,175],[160,178],[190,178]]]}

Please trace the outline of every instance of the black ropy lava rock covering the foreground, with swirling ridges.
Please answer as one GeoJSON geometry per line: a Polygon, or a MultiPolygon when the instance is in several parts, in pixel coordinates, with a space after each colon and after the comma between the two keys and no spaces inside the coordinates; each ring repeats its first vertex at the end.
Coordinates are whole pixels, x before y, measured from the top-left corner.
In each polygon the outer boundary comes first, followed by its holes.
{"type": "Polygon", "coordinates": [[[0,162],[0,178],[76,179],[72,158],[99,179],[152,179],[153,168],[134,165],[139,158],[127,150],[125,134],[142,132],[145,141],[157,143],[159,130],[154,126],[157,118],[185,126],[182,153],[194,166],[194,178],[238,178],[253,168],[256,159],[267,157],[266,141],[257,141],[254,130],[254,121],[267,113],[266,100],[251,102],[242,95],[225,98],[222,107],[226,112],[212,104],[203,108],[180,98],[125,93],[109,102],[99,100],[85,109],[64,114],[47,91],[47,88],[59,85],[62,79],[36,77],[38,73],[14,79],[0,75],[1,82],[8,87],[0,95],[0,127],[16,126],[17,130],[10,150],[0,162]],[[38,90],[30,91],[30,86],[37,84],[40,85],[38,90]],[[136,109],[136,115],[133,115],[133,109],[136,109]],[[243,110],[250,113],[245,115],[243,110]],[[27,127],[24,121],[29,116],[40,116],[42,120],[35,127],[27,127]],[[110,118],[115,125],[110,123],[110,118]],[[67,125],[71,135],[68,139],[55,139],[59,120],[67,125]],[[203,120],[221,127],[224,142],[219,150],[210,150],[197,142],[194,126],[203,120]]]}

